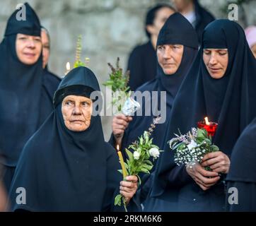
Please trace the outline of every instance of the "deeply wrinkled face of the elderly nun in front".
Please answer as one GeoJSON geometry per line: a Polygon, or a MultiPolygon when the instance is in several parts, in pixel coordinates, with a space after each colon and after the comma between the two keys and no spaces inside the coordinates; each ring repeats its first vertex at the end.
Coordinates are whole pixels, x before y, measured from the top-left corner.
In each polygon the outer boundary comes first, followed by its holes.
{"type": "Polygon", "coordinates": [[[91,124],[93,102],[82,96],[69,95],[62,101],[62,115],[67,129],[81,132],[91,124]]]}

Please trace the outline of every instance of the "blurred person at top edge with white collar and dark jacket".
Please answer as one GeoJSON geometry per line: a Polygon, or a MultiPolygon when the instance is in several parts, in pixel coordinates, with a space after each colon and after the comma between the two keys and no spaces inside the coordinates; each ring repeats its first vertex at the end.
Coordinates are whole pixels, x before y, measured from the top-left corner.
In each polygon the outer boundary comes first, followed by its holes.
{"type": "Polygon", "coordinates": [[[206,11],[197,0],[171,0],[175,8],[187,20],[190,21],[194,29],[197,31],[199,42],[202,42],[202,33],[206,25],[215,20],[214,16],[206,11]]]}

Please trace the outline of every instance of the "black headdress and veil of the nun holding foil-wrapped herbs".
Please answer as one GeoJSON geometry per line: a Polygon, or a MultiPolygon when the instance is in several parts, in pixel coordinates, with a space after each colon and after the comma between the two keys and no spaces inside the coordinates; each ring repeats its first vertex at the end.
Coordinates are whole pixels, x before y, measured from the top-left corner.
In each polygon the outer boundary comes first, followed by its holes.
{"type": "MultiPolygon", "coordinates": [[[[192,62],[194,61],[194,57],[197,54],[197,33],[186,18],[184,18],[180,13],[174,13],[168,18],[168,20],[166,20],[165,25],[163,25],[163,28],[161,29],[158,36],[158,44],[184,45],[180,67],[178,68],[178,71],[176,71],[173,75],[166,75],[163,72],[161,66],[158,64],[158,73],[156,79],[142,85],[138,89],[138,91],[141,92],[158,91],[158,100],[151,100],[149,103],[143,102],[141,109],[142,116],[135,115],[130,122],[127,131],[125,131],[125,136],[122,141],[122,150],[124,150],[124,148],[126,148],[132,142],[136,141],[136,138],[141,136],[141,134],[149,128],[153,122],[154,115],[156,115],[156,110],[160,109],[161,107],[161,91],[165,91],[166,120],[162,124],[158,124],[155,131],[152,133],[153,143],[161,147],[163,143],[163,136],[159,136],[159,134],[162,134],[165,131],[166,122],[170,117],[170,109],[173,106],[175,95],[178,92],[178,88],[180,87],[183,78],[185,78],[185,75],[189,71],[192,62]],[[187,39],[186,37],[190,37],[190,39],[187,39]],[[156,105],[156,102],[158,105],[156,105]],[[145,116],[145,106],[152,107],[153,112],[151,112],[150,116],[145,116]]],[[[138,111],[136,113],[141,112],[138,111]]]]}

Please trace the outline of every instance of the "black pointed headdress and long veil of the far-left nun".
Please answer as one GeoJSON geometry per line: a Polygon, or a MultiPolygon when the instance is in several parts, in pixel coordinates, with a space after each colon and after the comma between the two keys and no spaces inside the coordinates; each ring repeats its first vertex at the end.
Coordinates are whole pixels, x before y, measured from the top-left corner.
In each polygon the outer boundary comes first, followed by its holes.
{"type": "Polygon", "coordinates": [[[21,63],[16,54],[16,35],[40,36],[40,22],[28,4],[26,20],[9,18],[0,44],[0,152],[7,166],[15,166],[23,145],[39,126],[42,90],[42,56],[33,65],[21,63]]]}

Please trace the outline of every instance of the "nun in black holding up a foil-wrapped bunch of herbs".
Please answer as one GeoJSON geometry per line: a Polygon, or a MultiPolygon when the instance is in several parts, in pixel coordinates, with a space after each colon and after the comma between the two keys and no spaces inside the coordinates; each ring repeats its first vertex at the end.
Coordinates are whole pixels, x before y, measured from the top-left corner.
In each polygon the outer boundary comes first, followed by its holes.
{"type": "MultiPolygon", "coordinates": [[[[194,61],[194,58],[197,55],[197,49],[198,49],[198,41],[197,41],[197,33],[195,32],[194,28],[192,28],[192,25],[187,21],[187,19],[182,16],[180,13],[174,13],[172,16],[166,20],[165,25],[163,25],[163,28],[161,29],[159,35],[158,35],[158,41],[157,41],[157,52],[158,52],[158,73],[154,80],[145,83],[142,85],[138,90],[141,93],[144,91],[149,91],[150,93],[152,91],[157,91],[157,96],[151,96],[151,100],[144,100],[144,102],[141,105],[141,112],[136,112],[136,114],[139,113],[139,115],[136,115],[132,117],[132,121],[129,123],[129,126],[124,131],[124,135],[122,137],[122,151],[123,155],[127,157],[127,154],[125,153],[124,149],[127,148],[132,142],[136,141],[136,139],[143,134],[144,131],[149,129],[149,126],[151,126],[154,117],[156,117],[157,112],[159,109],[162,108],[165,109],[163,121],[161,121],[161,124],[156,125],[156,129],[153,131],[151,137],[153,138],[153,143],[155,145],[158,145],[160,149],[163,148],[163,138],[162,135],[165,132],[165,127],[168,122],[168,119],[170,117],[170,111],[173,107],[173,100],[175,99],[175,95],[178,92],[178,89],[180,87],[180,84],[182,83],[183,79],[185,78],[187,72],[190,69],[190,66],[192,66],[192,62],[194,61]],[[189,39],[187,37],[190,37],[189,39]],[[173,48],[175,46],[181,45],[183,46],[183,53],[182,53],[182,59],[180,62],[180,66],[178,67],[178,70],[175,71],[175,73],[168,74],[168,67],[163,66],[163,57],[161,57],[161,51],[165,47],[165,45],[170,45],[173,48]],[[161,59],[160,59],[161,57],[161,59]],[[162,65],[159,63],[161,62],[162,65]],[[165,71],[163,71],[163,68],[167,68],[165,71]],[[166,93],[166,103],[162,102],[163,97],[161,97],[161,91],[166,93]],[[162,106],[161,106],[162,105],[162,106]],[[163,106],[165,105],[165,106],[163,106]],[[146,107],[151,106],[151,114],[149,116],[146,116],[146,107]],[[164,108],[165,107],[165,108],[164,108]],[[142,114],[141,114],[142,113],[142,114]]],[[[166,52],[165,54],[169,55],[168,57],[165,57],[164,63],[170,62],[171,57],[175,55],[175,52],[177,49],[173,49],[173,52],[166,52]]],[[[177,56],[177,55],[176,55],[177,56]]],[[[175,57],[176,61],[176,57],[175,57]]],[[[173,61],[172,61],[173,62],[173,61]]],[[[152,95],[152,93],[151,93],[152,95]]],[[[128,117],[122,116],[124,119],[128,117]]],[[[114,119],[115,120],[115,119],[114,119]]],[[[161,119],[162,120],[162,119],[161,119]]],[[[114,123],[113,123],[114,125],[114,123]]],[[[117,125],[118,127],[119,125],[117,125]]],[[[110,138],[110,143],[115,146],[117,145],[117,142],[115,140],[114,135],[110,138]]],[[[153,171],[153,169],[152,169],[153,171]]],[[[142,175],[141,175],[142,176],[142,175]]],[[[149,189],[151,187],[151,177],[149,175],[144,175],[142,187],[141,187],[141,202],[144,203],[144,200],[147,198],[149,189]]],[[[161,201],[162,203],[162,201],[161,201]]],[[[154,206],[160,206],[162,205],[157,202],[156,200],[153,200],[151,198],[151,201],[147,201],[145,205],[145,211],[153,211],[153,205],[154,206]]]]}

